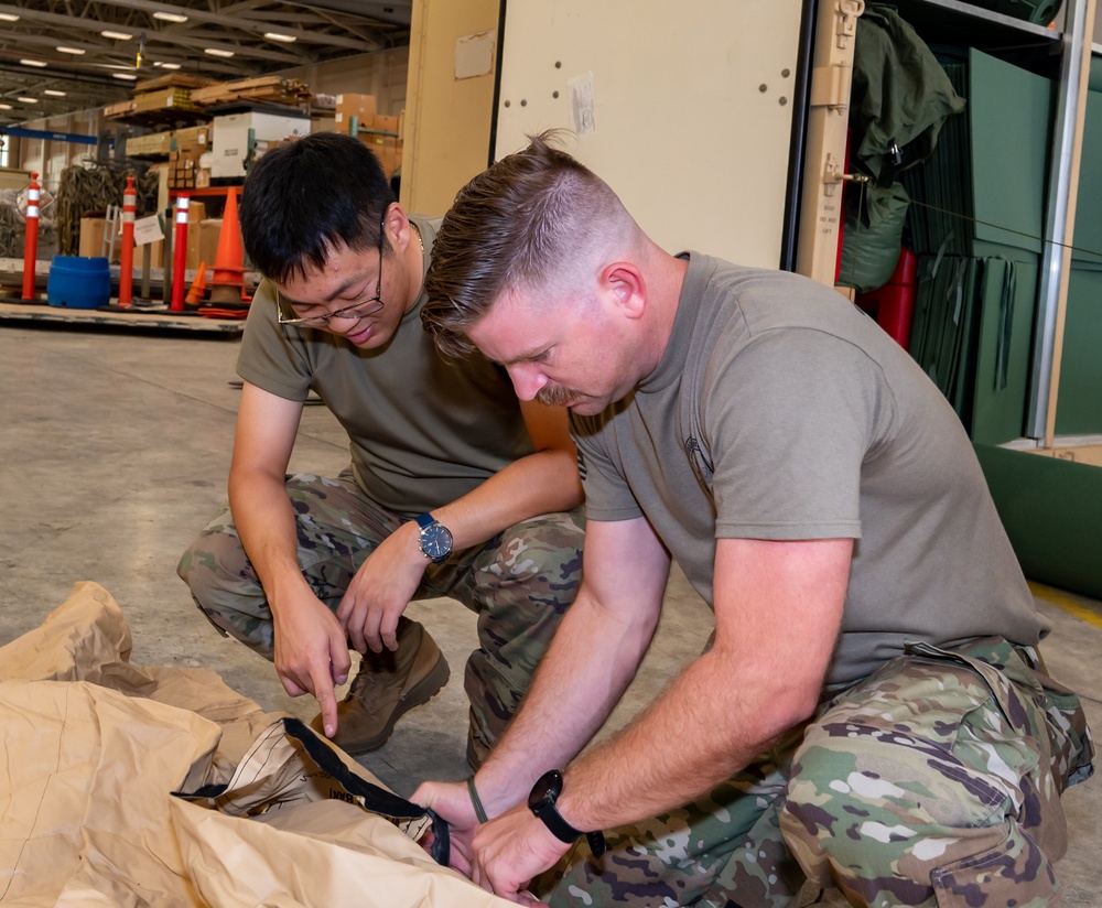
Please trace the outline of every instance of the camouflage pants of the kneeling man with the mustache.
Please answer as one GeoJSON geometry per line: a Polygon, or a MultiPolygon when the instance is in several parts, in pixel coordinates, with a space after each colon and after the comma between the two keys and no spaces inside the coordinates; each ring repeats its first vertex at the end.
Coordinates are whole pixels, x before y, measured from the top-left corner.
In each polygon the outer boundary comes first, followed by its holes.
{"type": "Polygon", "coordinates": [[[992,638],[915,645],[688,807],[584,843],[555,906],[779,908],[810,877],[852,905],[1049,905],[1060,792],[1092,771],[1079,699],[992,638]],[[587,860],[586,860],[587,858],[587,860]]]}

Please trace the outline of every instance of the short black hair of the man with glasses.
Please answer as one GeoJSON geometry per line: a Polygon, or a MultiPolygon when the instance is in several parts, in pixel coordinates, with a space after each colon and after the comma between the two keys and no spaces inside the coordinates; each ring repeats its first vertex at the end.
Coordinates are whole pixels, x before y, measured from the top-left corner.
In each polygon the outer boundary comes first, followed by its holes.
{"type": "Polygon", "coordinates": [[[338,132],[311,133],[271,149],[250,169],[239,208],[241,241],[264,277],[279,283],[305,278],[309,269],[324,268],[336,247],[375,249],[392,202],[367,145],[338,132]]]}

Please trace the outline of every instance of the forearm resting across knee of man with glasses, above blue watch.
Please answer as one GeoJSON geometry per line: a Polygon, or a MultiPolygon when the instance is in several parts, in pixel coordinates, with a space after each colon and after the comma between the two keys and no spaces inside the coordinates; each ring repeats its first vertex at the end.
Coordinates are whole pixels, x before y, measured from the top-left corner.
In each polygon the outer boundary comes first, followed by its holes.
{"type": "Polygon", "coordinates": [[[462,498],[433,508],[456,550],[478,545],[514,523],[568,511],[583,500],[577,464],[568,451],[540,451],[498,471],[462,498]]]}

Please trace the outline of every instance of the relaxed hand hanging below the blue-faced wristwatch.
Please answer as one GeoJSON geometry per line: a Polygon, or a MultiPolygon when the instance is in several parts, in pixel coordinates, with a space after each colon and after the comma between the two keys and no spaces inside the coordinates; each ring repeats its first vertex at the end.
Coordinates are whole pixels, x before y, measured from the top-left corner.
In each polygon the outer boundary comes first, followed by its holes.
{"type": "Polygon", "coordinates": [[[403,523],[360,565],[336,613],[357,651],[398,649],[398,619],[428,564],[417,545],[415,525],[403,523]]]}

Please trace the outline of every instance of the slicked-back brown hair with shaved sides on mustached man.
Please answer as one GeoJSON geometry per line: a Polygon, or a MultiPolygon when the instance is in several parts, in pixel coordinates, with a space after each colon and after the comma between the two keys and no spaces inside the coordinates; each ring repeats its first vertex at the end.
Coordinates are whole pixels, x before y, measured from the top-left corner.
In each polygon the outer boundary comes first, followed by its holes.
{"type": "Polygon", "coordinates": [[[615,193],[553,148],[553,132],[503,158],[455,197],[432,246],[421,321],[437,348],[464,356],[467,331],[505,292],[553,282],[585,248],[615,193]]]}

